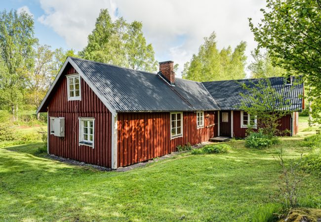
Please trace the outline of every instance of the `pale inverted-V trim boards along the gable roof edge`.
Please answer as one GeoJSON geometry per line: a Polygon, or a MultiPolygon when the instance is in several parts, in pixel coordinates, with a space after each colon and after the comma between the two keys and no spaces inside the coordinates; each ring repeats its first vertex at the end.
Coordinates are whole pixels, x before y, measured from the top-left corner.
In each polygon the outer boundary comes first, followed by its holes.
{"type": "Polygon", "coordinates": [[[83,78],[83,80],[89,85],[89,87],[92,89],[92,91],[97,95],[97,97],[103,102],[103,104],[107,107],[107,109],[113,114],[113,116],[117,115],[117,112],[111,107],[111,105],[108,103],[108,101],[97,91],[96,87],[91,84],[91,82],[87,79],[87,77],[82,73],[81,69],[77,66],[77,64],[72,60],[72,57],[67,57],[64,65],[61,67],[58,75],[56,76],[55,80],[53,81],[52,85],[50,86],[47,94],[45,95],[45,97],[43,98],[38,110],[36,111],[36,113],[38,114],[38,112],[41,110],[41,108],[43,107],[45,101],[48,99],[48,96],[50,95],[52,89],[54,88],[54,86],[56,85],[58,79],[60,78],[61,74],[63,73],[63,71],[65,70],[67,64],[70,63],[75,70],[79,73],[79,75],[81,76],[81,78],[83,78]]]}

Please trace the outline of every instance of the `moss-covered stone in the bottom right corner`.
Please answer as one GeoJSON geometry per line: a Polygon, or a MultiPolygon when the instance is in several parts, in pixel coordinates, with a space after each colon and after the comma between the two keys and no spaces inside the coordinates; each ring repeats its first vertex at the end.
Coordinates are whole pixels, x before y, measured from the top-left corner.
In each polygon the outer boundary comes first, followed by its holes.
{"type": "Polygon", "coordinates": [[[294,208],[290,210],[286,219],[278,222],[321,222],[321,209],[294,208]]]}

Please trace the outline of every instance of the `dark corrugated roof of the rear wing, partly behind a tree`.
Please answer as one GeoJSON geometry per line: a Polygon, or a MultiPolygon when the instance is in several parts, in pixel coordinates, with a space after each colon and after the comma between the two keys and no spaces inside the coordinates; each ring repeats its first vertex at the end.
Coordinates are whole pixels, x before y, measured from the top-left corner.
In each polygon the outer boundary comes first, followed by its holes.
{"type": "MultiPolygon", "coordinates": [[[[290,100],[290,111],[302,111],[302,95],[303,83],[301,76],[292,77],[293,84],[285,85],[284,77],[269,78],[271,86],[280,94],[283,94],[285,100],[290,100]]],[[[217,102],[221,110],[239,110],[241,102],[246,101],[240,93],[249,94],[247,89],[242,87],[246,84],[248,87],[255,87],[262,79],[240,79],[240,80],[225,80],[225,81],[211,81],[203,82],[207,91],[211,94],[213,99],[217,102]]]]}

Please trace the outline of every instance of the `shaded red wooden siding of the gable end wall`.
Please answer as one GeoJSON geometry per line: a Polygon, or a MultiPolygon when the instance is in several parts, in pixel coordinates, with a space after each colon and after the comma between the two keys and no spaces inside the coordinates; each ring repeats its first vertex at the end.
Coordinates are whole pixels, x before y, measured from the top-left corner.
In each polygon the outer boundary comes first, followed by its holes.
{"type": "Polygon", "coordinates": [[[48,115],[65,117],[65,138],[49,136],[49,153],[86,163],[111,167],[111,112],[81,79],[81,101],[67,101],[66,74],[77,73],[72,66],[56,84],[48,104],[48,115]],[[95,118],[94,148],[79,146],[78,117],[95,118]]]}

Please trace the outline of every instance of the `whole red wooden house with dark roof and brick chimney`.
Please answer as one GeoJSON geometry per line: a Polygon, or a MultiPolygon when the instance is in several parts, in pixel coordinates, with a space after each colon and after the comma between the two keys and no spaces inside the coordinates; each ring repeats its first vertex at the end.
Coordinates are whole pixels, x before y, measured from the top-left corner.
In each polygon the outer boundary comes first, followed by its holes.
{"type": "MultiPolygon", "coordinates": [[[[281,129],[295,135],[303,84],[283,77],[271,82],[291,89],[293,112],[281,119],[281,129]]],[[[116,169],[178,145],[244,137],[253,118],[236,108],[241,90],[235,80],[175,78],[172,61],[154,74],[68,57],[37,113],[48,113],[48,153],[116,169]]]]}

